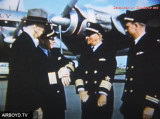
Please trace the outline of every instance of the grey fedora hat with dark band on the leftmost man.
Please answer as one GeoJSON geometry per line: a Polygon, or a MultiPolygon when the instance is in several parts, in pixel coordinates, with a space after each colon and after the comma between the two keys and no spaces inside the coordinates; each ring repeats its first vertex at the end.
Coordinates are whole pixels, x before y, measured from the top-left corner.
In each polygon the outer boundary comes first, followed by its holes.
{"type": "Polygon", "coordinates": [[[29,22],[38,22],[38,23],[47,23],[48,14],[43,9],[29,9],[27,13],[26,21],[29,22]]]}

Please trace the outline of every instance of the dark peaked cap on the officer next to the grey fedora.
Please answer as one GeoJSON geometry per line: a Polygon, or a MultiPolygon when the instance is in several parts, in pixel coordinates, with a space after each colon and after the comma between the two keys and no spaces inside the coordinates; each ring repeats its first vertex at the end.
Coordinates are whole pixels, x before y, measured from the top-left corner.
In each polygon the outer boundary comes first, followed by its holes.
{"type": "Polygon", "coordinates": [[[47,24],[45,33],[41,36],[41,39],[53,39],[57,36],[57,33],[55,32],[55,25],[53,24],[47,24]]]}

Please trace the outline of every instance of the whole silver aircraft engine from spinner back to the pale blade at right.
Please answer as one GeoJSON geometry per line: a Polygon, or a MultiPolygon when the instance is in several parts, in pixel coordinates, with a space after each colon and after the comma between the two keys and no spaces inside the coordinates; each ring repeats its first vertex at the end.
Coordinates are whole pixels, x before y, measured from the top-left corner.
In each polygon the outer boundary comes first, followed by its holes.
{"type": "Polygon", "coordinates": [[[86,29],[87,22],[99,23],[106,31],[112,30],[114,24],[119,32],[125,34],[120,21],[117,20],[117,16],[113,17],[110,13],[90,8],[74,7],[65,17],[53,16],[51,22],[61,25],[61,32],[66,36],[82,33],[86,29]]]}

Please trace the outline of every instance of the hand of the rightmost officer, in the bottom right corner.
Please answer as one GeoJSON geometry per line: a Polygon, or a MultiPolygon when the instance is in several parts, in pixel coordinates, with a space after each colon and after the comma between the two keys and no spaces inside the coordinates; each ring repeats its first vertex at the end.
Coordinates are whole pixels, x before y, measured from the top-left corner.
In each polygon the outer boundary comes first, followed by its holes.
{"type": "Polygon", "coordinates": [[[145,107],[143,110],[143,119],[152,119],[154,108],[145,107]]]}

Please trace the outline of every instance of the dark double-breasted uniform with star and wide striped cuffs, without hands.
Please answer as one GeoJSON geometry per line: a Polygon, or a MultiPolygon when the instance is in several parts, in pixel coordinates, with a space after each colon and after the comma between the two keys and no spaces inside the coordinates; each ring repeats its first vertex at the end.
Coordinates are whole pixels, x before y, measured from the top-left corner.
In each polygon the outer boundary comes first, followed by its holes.
{"type": "MultiPolygon", "coordinates": [[[[107,105],[101,109],[105,110],[104,113],[109,109],[112,115],[112,83],[115,69],[115,52],[104,43],[102,43],[95,52],[93,52],[91,48],[88,48],[88,50],[81,55],[79,59],[79,66],[74,73],[76,89],[79,91],[84,88],[85,91],[88,91],[88,95],[90,96],[86,103],[82,103],[82,118],[83,114],[85,114],[87,110],[92,110],[91,115],[86,113],[86,115],[88,115],[88,117],[86,116],[88,119],[100,118],[101,116],[102,118],[106,118],[106,116],[99,115],[98,113],[100,110],[98,110],[99,107],[97,106],[97,101],[100,93],[108,95],[107,105]]],[[[102,110],[101,112],[103,113],[102,110]]]]}

